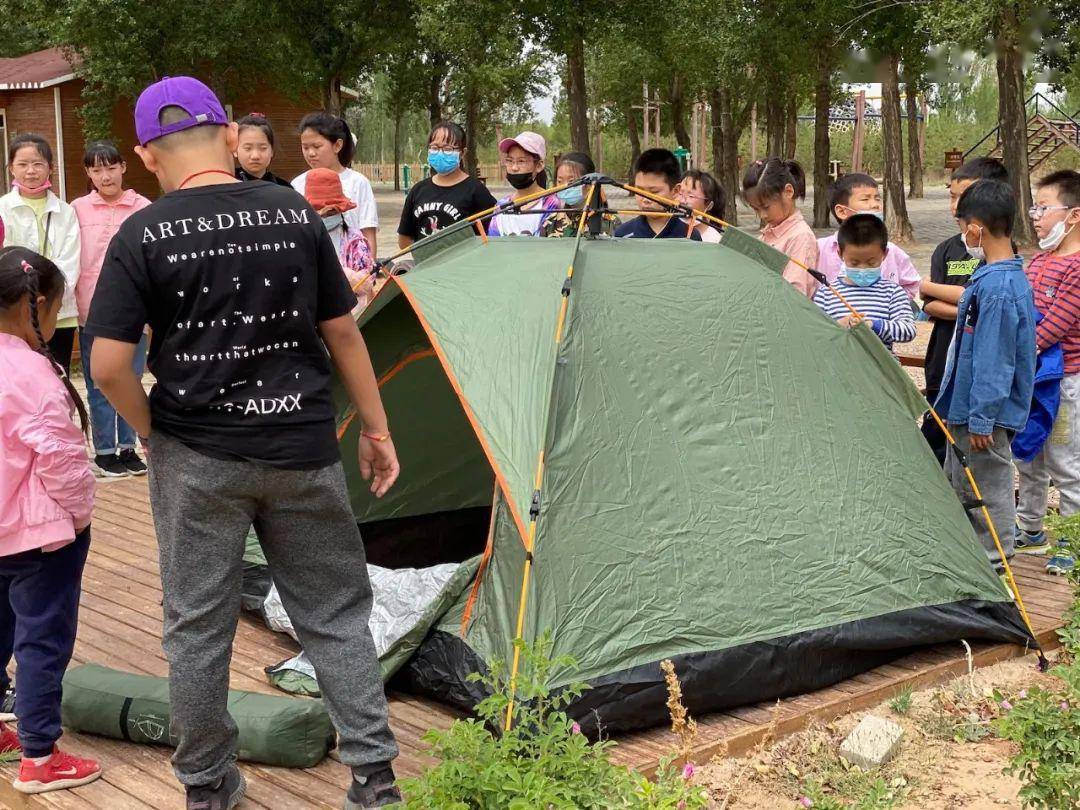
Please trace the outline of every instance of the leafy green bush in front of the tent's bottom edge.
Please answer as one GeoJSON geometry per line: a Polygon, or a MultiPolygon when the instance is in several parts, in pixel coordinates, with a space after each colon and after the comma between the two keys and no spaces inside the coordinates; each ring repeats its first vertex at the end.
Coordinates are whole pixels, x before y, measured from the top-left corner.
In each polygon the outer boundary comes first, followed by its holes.
{"type": "Polygon", "coordinates": [[[483,684],[490,697],[476,717],[456,720],[445,731],[424,734],[440,762],[423,775],[402,781],[407,808],[444,810],[535,810],[536,808],[703,808],[704,791],[665,762],[654,782],[608,759],[610,742],[590,742],[566,716],[566,706],[585,689],[571,684],[552,692],[555,667],[572,659],[550,657],[549,636],[516,642],[522,669],[510,683],[502,661],[492,661],[483,684]],[[513,699],[510,731],[501,728],[513,699]]]}

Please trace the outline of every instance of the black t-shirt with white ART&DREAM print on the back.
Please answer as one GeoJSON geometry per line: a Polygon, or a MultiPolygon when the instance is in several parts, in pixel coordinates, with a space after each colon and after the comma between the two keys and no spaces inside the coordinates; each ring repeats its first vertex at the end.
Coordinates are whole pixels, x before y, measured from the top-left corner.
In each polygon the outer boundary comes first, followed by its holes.
{"type": "Polygon", "coordinates": [[[318,324],[356,297],[308,202],[270,183],[173,191],[112,239],[94,337],[137,342],[154,431],[214,458],[294,470],[339,459],[318,324]]]}

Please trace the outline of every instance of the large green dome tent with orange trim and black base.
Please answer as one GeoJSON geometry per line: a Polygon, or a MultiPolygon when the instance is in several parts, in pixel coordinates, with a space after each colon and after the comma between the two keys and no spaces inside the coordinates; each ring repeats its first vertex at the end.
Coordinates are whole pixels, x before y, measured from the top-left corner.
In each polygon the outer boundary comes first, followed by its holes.
{"type": "Polygon", "coordinates": [[[896,361],[729,244],[429,240],[363,313],[403,470],[370,498],[342,404],[372,562],[486,550],[406,688],[485,697],[465,677],[512,654],[530,534],[523,637],[576,659],[555,686],[591,684],[571,708],[591,728],[666,717],[663,659],[702,713],[919,645],[1028,640],[896,361]]]}

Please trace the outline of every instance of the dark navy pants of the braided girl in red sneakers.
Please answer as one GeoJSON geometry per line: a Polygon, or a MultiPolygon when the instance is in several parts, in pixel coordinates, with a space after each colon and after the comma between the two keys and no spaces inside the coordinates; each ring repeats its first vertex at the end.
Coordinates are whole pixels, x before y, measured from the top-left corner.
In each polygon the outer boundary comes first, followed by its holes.
{"type": "Polygon", "coordinates": [[[14,654],[18,739],[28,757],[52,754],[60,739],[60,681],[75,650],[89,550],[87,526],[57,551],[0,556],[0,694],[14,654]]]}

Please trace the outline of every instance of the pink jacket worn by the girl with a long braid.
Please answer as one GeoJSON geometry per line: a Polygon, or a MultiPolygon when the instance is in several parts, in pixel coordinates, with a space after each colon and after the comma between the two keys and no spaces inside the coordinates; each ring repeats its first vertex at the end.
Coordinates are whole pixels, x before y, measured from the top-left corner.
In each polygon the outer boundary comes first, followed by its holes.
{"type": "Polygon", "coordinates": [[[49,361],[0,333],[0,556],[55,551],[90,523],[94,474],[49,361]]]}

